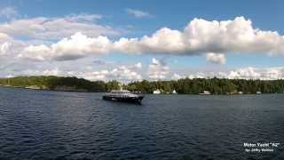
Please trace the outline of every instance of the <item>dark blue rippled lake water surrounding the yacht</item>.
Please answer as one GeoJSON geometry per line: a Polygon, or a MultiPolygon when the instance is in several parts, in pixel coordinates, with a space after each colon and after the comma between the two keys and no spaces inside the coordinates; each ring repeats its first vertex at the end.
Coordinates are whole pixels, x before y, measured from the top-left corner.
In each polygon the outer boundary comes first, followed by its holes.
{"type": "Polygon", "coordinates": [[[283,159],[284,94],[146,95],[0,87],[0,159],[283,159]],[[243,143],[279,142],[246,153],[243,143]]]}

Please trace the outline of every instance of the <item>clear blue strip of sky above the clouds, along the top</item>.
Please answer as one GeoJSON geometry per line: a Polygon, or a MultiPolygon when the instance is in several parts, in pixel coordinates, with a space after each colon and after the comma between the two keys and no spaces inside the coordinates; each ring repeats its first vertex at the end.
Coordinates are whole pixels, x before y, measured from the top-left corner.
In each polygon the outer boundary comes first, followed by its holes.
{"type": "Polygon", "coordinates": [[[268,1],[206,1],[180,0],[177,2],[159,0],[7,0],[1,2],[1,7],[13,6],[28,17],[64,16],[70,13],[96,13],[109,16],[109,23],[115,25],[133,25],[154,31],[162,26],[184,28],[193,18],[207,20],[230,20],[237,16],[245,16],[253,20],[256,28],[280,30],[283,27],[281,6],[283,2],[268,1]],[[151,23],[143,23],[131,16],[125,15],[126,8],[138,9],[152,13],[156,19],[148,19],[151,23]],[[281,25],[282,24],[282,25],[281,25]]]}

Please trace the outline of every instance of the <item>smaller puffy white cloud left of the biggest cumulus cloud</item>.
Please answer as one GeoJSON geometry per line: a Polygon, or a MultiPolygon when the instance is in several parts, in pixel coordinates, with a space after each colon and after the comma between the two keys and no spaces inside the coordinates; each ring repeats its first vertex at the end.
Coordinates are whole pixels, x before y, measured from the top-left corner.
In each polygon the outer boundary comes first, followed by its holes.
{"type": "Polygon", "coordinates": [[[110,49],[111,42],[106,36],[92,38],[78,32],[51,46],[29,45],[18,57],[29,60],[75,60],[90,54],[104,54],[110,49]]]}

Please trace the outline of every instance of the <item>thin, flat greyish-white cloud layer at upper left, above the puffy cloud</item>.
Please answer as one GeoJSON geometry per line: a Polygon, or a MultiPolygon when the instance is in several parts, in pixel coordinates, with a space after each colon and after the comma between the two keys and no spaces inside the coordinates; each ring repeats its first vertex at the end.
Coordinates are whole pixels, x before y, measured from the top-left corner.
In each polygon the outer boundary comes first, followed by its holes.
{"type": "Polygon", "coordinates": [[[65,17],[36,17],[0,23],[0,32],[10,36],[27,36],[36,39],[60,39],[82,32],[87,36],[116,36],[120,32],[94,22],[99,14],[72,14],[65,17]]]}

